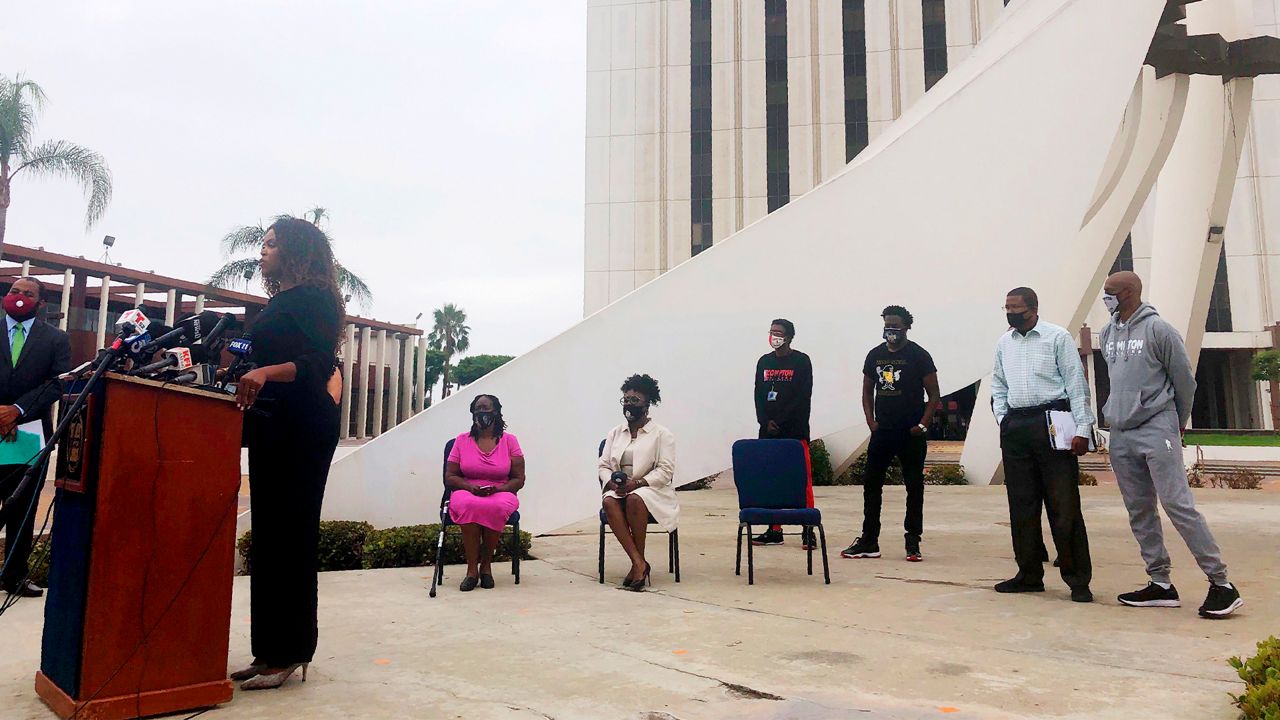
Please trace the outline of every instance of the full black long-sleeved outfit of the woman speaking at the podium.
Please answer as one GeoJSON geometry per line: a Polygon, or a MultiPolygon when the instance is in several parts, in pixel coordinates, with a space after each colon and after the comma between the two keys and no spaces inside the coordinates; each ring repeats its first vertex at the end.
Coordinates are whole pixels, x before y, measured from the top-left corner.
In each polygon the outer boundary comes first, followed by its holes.
{"type": "Polygon", "coordinates": [[[320,505],[339,423],[326,383],[340,324],[329,292],[294,287],[276,293],[250,327],[259,368],[298,369],[292,383],[266,383],[244,415],[253,659],[270,667],[310,662],[316,650],[320,505]]]}

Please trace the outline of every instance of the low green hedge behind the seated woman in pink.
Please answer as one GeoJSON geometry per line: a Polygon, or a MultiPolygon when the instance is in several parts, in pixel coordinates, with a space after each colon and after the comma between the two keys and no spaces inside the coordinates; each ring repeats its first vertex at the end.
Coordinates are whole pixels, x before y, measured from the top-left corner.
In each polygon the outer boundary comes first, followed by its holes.
{"type": "MultiPolygon", "coordinates": [[[[408,525],[375,530],[369,523],[349,520],[325,520],[320,523],[320,571],[360,570],[372,568],[417,568],[435,562],[435,543],[440,525],[408,525]]],[[[244,574],[252,568],[248,550],[253,543],[252,532],[246,532],[236,541],[236,550],[244,561],[244,574]]],[[[532,536],[520,533],[522,559],[529,559],[532,536]]],[[[494,553],[494,560],[511,560],[511,528],[503,530],[502,546],[494,553]]],[[[462,530],[449,527],[444,536],[444,564],[463,562],[462,530]]]]}

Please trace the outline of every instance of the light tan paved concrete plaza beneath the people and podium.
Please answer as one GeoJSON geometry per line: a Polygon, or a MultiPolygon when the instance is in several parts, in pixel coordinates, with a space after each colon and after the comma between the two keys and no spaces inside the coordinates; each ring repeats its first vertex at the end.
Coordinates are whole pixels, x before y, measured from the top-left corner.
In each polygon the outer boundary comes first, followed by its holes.
{"type": "MultiPolygon", "coordinates": [[[[727,484],[727,483],[722,483],[727,484]]],[[[886,491],[881,560],[841,560],[860,488],[818,488],[832,584],[805,575],[796,538],[756,548],[756,584],[733,577],[732,487],[681,493],[682,583],[653,536],[648,593],[614,589],[609,539],[595,582],[596,525],[534,541],[522,584],[462,594],[458,568],[426,596],[426,569],[320,577],[320,653],[306,685],[238,693],[202,717],[466,719],[1188,719],[1229,720],[1226,659],[1280,628],[1280,493],[1197,491],[1247,605],[1196,615],[1206,583],[1176,536],[1185,606],[1135,610],[1115,596],[1142,564],[1114,487],[1083,488],[1098,602],[998,596],[1012,573],[1004,488],[928,488],[925,561],[900,559],[901,488],[886,491]]],[[[1166,523],[1167,528],[1167,523],[1166,523]]],[[[1172,533],[1172,530],[1169,530],[1172,533]]],[[[5,720],[52,717],[32,692],[41,601],[0,619],[5,720]]],[[[248,659],[248,579],[236,579],[232,665],[248,659]]]]}

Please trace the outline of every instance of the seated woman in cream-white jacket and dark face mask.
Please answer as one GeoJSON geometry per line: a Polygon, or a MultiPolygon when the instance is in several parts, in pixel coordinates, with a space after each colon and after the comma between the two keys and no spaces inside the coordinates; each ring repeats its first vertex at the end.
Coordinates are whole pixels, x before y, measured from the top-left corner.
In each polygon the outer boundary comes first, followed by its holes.
{"type": "Polygon", "coordinates": [[[631,571],[622,587],[640,592],[649,582],[644,559],[649,516],[663,530],[676,529],[680,501],[671,482],[676,473],[676,438],[649,418],[649,407],[662,402],[658,380],[631,375],[622,383],[622,415],[626,423],[613,428],[600,454],[604,483],[604,516],[631,559],[631,571]]]}

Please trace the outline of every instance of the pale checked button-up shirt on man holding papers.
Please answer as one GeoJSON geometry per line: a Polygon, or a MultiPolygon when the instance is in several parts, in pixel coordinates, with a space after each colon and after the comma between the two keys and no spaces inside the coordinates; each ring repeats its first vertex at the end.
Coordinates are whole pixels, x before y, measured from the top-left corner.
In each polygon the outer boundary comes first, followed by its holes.
{"type": "Polygon", "coordinates": [[[1056,400],[1071,401],[1076,437],[1089,437],[1097,421],[1071,333],[1044,320],[1027,334],[1009,331],[996,343],[991,398],[997,421],[1005,419],[1010,407],[1036,407],[1056,400]]]}

